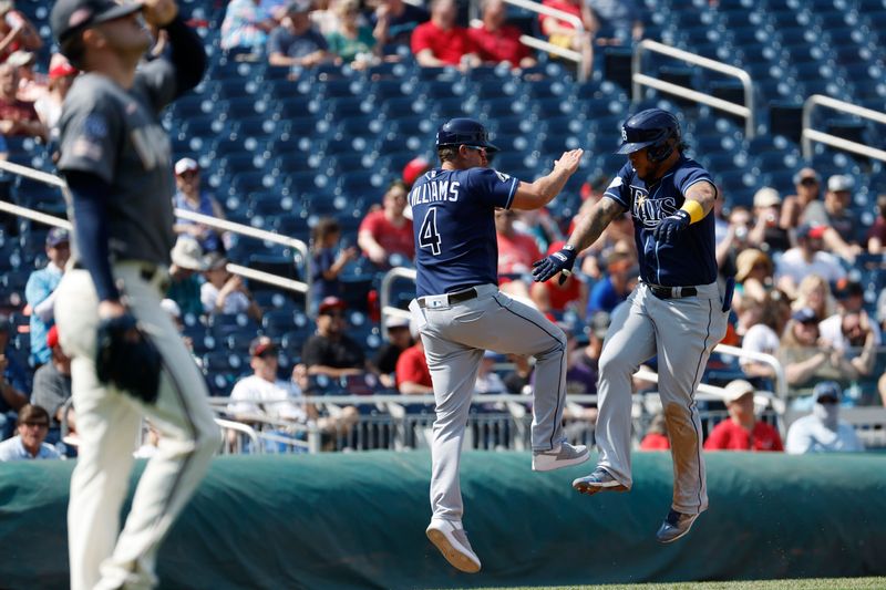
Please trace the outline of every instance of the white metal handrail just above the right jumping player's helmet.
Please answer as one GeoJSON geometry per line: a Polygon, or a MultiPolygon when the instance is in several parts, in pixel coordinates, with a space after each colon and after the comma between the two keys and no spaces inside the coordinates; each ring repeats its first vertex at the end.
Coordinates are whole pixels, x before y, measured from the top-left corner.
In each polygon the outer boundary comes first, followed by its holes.
{"type": "Polygon", "coordinates": [[[749,74],[741,68],[735,68],[734,65],[728,65],[725,63],[718,62],[709,58],[703,58],[701,55],[697,55],[696,53],[690,53],[681,49],[666,45],[664,43],[659,43],[658,41],[652,41],[651,39],[643,39],[642,41],[637,43],[633,50],[633,58],[631,61],[631,81],[633,82],[632,96],[631,96],[631,100],[633,102],[638,102],[640,100],[641,86],[650,86],[661,92],[676,94],[680,97],[689,99],[691,101],[696,101],[701,104],[707,104],[708,106],[712,106],[713,108],[719,108],[720,111],[725,111],[733,115],[743,117],[744,135],[749,139],[752,139],[756,133],[756,128],[754,126],[753,81],[751,80],[751,74],[749,74]],[[680,86],[678,84],[671,84],[669,82],[664,82],[656,77],[645,75],[642,73],[643,51],[652,51],[656,53],[661,53],[668,55],[669,58],[683,60],[684,62],[698,65],[700,68],[714,70],[715,72],[738,77],[739,81],[741,82],[742,87],[744,89],[744,105],[742,106],[740,104],[718,99],[711,94],[697,92],[691,89],[680,86]]]}

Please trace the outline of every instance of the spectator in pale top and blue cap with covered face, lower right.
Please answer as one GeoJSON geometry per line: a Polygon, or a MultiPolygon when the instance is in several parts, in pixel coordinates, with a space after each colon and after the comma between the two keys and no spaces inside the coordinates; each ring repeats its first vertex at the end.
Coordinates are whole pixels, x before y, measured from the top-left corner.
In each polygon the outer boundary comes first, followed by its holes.
{"type": "Polygon", "coordinates": [[[839,385],[823,381],[813,391],[812,414],[797,420],[787,429],[786,451],[803,453],[849,453],[864,451],[855,428],[839,420],[839,385]]]}

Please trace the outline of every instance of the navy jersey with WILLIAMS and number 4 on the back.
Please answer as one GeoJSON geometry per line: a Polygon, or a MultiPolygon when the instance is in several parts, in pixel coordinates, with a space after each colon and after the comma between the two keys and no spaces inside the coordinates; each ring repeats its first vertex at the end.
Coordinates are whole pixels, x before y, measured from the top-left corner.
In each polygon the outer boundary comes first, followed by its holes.
{"type": "Polygon", "coordinates": [[[491,168],[425,173],[409,194],[416,293],[498,283],[495,208],[509,208],[518,180],[491,168]]]}

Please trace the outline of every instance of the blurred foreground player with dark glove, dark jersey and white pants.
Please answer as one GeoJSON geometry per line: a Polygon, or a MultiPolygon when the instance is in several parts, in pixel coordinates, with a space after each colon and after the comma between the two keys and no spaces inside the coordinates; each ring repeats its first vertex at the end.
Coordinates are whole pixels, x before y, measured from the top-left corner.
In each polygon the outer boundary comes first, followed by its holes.
{"type": "Polygon", "coordinates": [[[74,226],[55,307],[81,441],[68,509],[71,588],[147,588],[161,540],[220,443],[203,376],[159,304],[175,241],[159,111],[199,82],[206,55],[173,0],[59,0],[51,23],[85,72],[64,103],[58,164],[74,226]],[[171,58],[136,71],[152,42],[145,21],[167,31],[171,58]],[[159,447],[120,532],[143,416],[159,447]]]}

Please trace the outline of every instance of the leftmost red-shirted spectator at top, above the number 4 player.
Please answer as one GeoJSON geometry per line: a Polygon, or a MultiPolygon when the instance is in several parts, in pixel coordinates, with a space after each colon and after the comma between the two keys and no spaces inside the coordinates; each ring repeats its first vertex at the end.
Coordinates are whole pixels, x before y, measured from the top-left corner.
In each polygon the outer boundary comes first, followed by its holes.
{"type": "Polygon", "coordinates": [[[476,48],[467,29],[456,24],[455,0],[432,0],[431,20],[412,33],[412,53],[424,68],[454,65],[462,70],[480,65],[476,48]]]}

